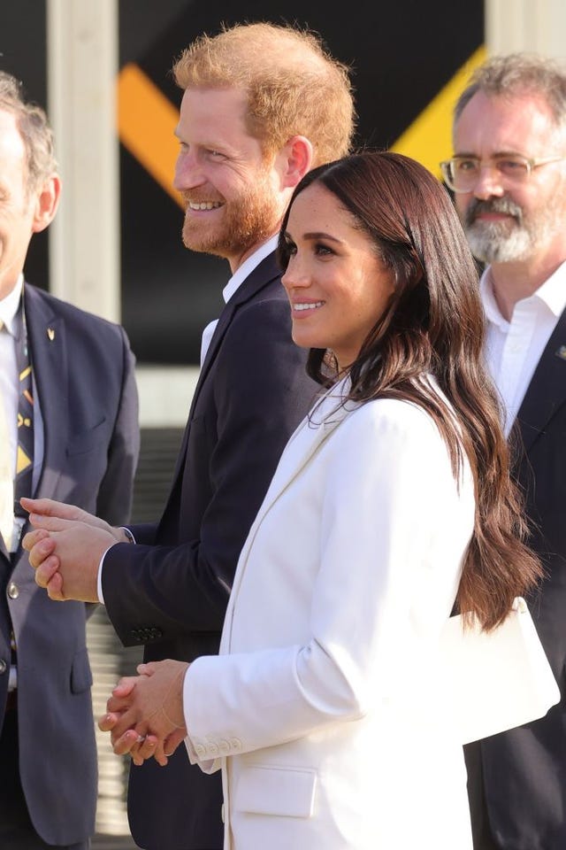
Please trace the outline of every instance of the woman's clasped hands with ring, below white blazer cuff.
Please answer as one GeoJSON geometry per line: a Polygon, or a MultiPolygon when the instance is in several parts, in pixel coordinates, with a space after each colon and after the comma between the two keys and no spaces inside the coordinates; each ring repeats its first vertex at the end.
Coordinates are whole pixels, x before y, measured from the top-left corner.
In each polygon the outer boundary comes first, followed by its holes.
{"type": "Polygon", "coordinates": [[[140,676],[122,678],[112,691],[98,726],[111,731],[114,753],[130,753],[135,764],[155,757],[167,764],[187,736],[183,715],[183,679],[186,661],[140,664],[140,676]]]}

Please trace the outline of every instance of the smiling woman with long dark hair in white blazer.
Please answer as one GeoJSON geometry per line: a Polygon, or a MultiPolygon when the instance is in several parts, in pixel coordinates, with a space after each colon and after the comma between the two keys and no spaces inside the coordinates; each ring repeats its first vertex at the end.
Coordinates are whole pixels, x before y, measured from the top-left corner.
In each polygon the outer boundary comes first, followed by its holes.
{"type": "Polygon", "coordinates": [[[325,393],[250,530],[221,654],[120,684],[115,751],[163,763],[187,738],[223,769],[233,850],[469,850],[440,634],[455,605],[492,630],[540,573],[474,263],[446,191],[394,153],[308,174],[279,255],[325,393]]]}

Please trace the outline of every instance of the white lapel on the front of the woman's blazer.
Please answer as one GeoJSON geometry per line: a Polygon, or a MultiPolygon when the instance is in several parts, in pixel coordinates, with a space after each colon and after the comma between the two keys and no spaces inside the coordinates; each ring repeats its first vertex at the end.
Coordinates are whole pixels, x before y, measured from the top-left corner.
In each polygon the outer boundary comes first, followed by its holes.
{"type": "Polygon", "coordinates": [[[309,415],[301,422],[294,434],[289,438],[287,446],[279,460],[278,468],[273,475],[272,483],[265,494],[264,502],[259,508],[256,520],[249,530],[248,538],[241,551],[238,568],[234,576],[232,592],[228,600],[224,629],[220,643],[220,653],[227,653],[230,649],[232,638],[233,610],[238,598],[241,581],[244,576],[249,553],[254,545],[254,540],[266,514],[269,513],[279,496],[293,483],[297,475],[313,459],[317,451],[325,444],[325,441],[359,406],[355,403],[341,403],[340,388],[343,383],[330,390],[310,411],[309,415]]]}

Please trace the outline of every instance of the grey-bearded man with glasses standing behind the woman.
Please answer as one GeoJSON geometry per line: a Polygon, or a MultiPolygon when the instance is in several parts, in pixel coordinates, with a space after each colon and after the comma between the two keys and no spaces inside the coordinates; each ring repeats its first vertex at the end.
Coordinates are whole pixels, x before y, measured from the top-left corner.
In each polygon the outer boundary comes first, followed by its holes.
{"type": "MultiPolygon", "coordinates": [[[[486,61],[455,104],[441,164],[485,269],[486,357],[547,577],[532,614],[566,692],[566,69],[486,61]]],[[[566,847],[566,700],[466,747],[475,850],[566,847]]]]}

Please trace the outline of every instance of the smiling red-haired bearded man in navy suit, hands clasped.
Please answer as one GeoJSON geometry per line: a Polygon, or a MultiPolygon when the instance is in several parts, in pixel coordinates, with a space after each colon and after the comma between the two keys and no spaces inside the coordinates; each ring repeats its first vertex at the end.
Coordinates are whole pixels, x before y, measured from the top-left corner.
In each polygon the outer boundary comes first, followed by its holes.
{"type": "MultiPolygon", "coordinates": [[[[346,153],[354,126],[347,69],[315,35],[293,27],[251,24],[203,36],[174,73],[184,92],[175,173],[186,203],[183,241],[227,259],[232,278],[208,347],[210,328],[203,337],[172,489],[159,522],[130,529],[135,545],[52,503],[30,506],[51,518],[34,516],[43,529],[26,544],[37,544],[32,562],[42,562],[44,586],[46,572],[60,566],[53,599],[103,599],[123,643],[146,645],[146,661],[218,653],[241,547],[287,438],[317,393],[291,340],[275,255],[279,225],[302,175],[346,153]],[[44,529],[61,533],[40,540],[44,529]]],[[[191,766],[185,747],[165,768],[146,761],[132,769],[128,804],[142,847],[223,846],[220,779],[191,766]]]]}

